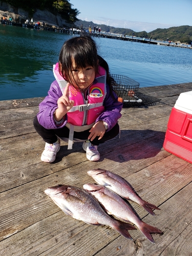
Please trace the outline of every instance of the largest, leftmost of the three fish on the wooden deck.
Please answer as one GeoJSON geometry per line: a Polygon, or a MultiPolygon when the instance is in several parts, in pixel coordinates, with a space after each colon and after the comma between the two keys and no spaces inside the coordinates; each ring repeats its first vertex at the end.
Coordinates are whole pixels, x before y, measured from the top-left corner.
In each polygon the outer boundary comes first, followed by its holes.
{"type": "Polygon", "coordinates": [[[87,190],[70,186],[48,187],[45,193],[65,214],[91,225],[107,225],[127,239],[132,239],[127,230],[136,229],[130,223],[111,218],[99,202],[87,190]]]}

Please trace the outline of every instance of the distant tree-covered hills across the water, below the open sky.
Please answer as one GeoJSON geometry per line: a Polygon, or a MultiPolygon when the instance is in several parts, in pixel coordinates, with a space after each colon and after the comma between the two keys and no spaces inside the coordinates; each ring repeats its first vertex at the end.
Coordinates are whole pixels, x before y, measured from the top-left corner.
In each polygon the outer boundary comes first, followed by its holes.
{"type": "Polygon", "coordinates": [[[75,23],[76,26],[82,25],[85,30],[89,28],[89,26],[93,27],[98,26],[101,28],[101,31],[109,32],[109,33],[117,33],[117,34],[125,34],[132,35],[134,32],[135,36],[150,38],[152,36],[155,40],[166,41],[167,38],[173,42],[180,41],[181,43],[191,44],[192,41],[192,26],[180,26],[180,27],[171,27],[168,29],[156,29],[149,33],[146,31],[135,32],[132,29],[125,28],[115,28],[106,25],[98,25],[93,22],[86,22],[85,20],[78,20],[75,23]]]}

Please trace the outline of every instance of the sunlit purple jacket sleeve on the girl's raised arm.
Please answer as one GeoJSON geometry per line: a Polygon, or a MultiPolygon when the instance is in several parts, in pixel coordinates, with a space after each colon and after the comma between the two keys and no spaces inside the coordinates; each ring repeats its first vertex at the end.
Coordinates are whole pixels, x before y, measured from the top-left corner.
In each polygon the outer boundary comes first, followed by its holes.
{"type": "Polygon", "coordinates": [[[58,108],[57,100],[62,96],[57,81],[52,82],[48,95],[39,104],[39,113],[37,114],[38,122],[46,129],[59,129],[66,125],[67,115],[63,123],[59,126],[55,123],[53,113],[58,108]]]}

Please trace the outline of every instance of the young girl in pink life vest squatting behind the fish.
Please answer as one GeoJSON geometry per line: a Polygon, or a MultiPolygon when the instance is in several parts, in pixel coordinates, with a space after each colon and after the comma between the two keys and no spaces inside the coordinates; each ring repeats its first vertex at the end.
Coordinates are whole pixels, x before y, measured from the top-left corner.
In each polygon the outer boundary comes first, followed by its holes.
{"type": "Polygon", "coordinates": [[[67,138],[68,149],[73,141],[83,141],[87,158],[98,161],[97,146],[119,133],[122,109],[108,64],[97,55],[91,36],[73,37],[63,44],[53,72],[56,80],[34,118],[35,130],[46,142],[41,160],[53,162],[60,139],[67,138]]]}

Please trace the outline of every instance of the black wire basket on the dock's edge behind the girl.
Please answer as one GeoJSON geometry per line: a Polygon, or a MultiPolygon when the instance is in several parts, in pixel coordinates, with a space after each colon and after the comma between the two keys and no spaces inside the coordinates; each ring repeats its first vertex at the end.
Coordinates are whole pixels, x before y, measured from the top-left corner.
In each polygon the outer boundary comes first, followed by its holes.
{"type": "Polygon", "coordinates": [[[111,75],[113,89],[119,98],[122,98],[123,103],[130,104],[134,102],[142,102],[137,97],[139,83],[127,76],[111,75]]]}

